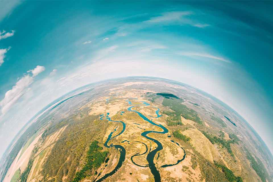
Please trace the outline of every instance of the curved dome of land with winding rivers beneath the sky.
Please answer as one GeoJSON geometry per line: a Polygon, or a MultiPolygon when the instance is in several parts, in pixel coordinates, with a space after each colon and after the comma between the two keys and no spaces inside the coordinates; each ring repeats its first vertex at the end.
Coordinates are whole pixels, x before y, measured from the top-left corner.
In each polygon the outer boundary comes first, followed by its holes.
{"type": "Polygon", "coordinates": [[[55,100],[16,138],[0,181],[259,181],[272,156],[236,111],[187,84],[119,78],[55,100]]]}

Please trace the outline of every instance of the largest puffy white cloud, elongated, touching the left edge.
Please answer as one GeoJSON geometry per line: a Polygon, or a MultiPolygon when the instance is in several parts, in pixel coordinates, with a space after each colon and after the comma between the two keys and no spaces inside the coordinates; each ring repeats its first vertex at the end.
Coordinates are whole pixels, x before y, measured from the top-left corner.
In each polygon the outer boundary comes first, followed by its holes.
{"type": "Polygon", "coordinates": [[[43,66],[37,66],[33,70],[27,71],[32,72],[32,76],[24,75],[20,78],[16,84],[12,87],[11,90],[8,90],[5,94],[3,100],[0,101],[1,113],[5,114],[15,103],[16,101],[26,94],[29,90],[30,84],[32,84],[34,77],[39,73],[45,70],[43,66]]]}

